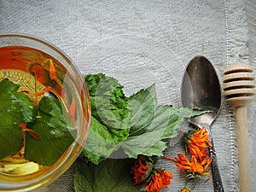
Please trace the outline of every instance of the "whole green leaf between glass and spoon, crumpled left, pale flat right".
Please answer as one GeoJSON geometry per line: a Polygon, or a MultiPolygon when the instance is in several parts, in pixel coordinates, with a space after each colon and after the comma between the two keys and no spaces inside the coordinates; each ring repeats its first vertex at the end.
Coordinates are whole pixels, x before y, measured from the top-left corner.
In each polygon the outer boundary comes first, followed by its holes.
{"type": "Polygon", "coordinates": [[[160,156],[166,148],[163,140],[175,137],[185,118],[202,113],[157,106],[155,84],[127,98],[116,79],[102,73],[84,79],[90,92],[92,118],[83,152],[95,164],[120,146],[132,158],[137,154],[160,156]]]}

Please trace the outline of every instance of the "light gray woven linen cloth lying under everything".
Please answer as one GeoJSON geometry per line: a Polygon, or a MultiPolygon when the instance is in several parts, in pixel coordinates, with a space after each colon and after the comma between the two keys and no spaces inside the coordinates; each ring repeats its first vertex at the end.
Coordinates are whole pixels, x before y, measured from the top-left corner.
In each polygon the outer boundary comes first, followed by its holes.
{"type": "MultiPolygon", "coordinates": [[[[181,105],[180,85],[186,65],[205,55],[222,82],[224,68],[246,61],[256,70],[255,0],[90,1],[1,0],[0,32],[21,32],[44,38],[69,55],[81,73],[106,73],[125,85],[125,94],[156,83],[160,104],[181,105]],[[236,10],[236,11],[235,11],[236,10]]],[[[212,137],[225,191],[238,191],[236,125],[224,96],[212,137]]],[[[256,106],[250,108],[250,145],[255,148],[256,106]]],[[[185,127],[182,127],[185,129],[185,127]]],[[[170,141],[165,154],[175,157],[183,149],[170,141]]],[[[252,150],[253,177],[256,158],[252,150]]],[[[172,172],[172,184],[162,191],[184,186],[183,175],[169,161],[160,165],[172,172]]],[[[43,191],[73,191],[73,166],[43,191]]],[[[212,192],[212,179],[202,180],[198,192],[212,192]]],[[[253,189],[256,189],[253,179],[253,189]]],[[[105,192],[105,191],[104,191],[105,192]]]]}

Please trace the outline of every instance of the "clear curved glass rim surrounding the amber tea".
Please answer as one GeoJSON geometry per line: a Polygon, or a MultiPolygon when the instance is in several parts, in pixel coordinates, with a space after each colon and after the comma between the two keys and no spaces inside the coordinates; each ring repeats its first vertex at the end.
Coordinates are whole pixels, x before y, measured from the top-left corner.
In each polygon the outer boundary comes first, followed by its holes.
{"type": "MultiPolygon", "coordinates": [[[[73,165],[73,162],[78,158],[81,150],[84,148],[84,146],[82,144],[85,143],[86,141],[86,137],[88,136],[89,133],[89,126],[90,126],[90,96],[89,96],[89,91],[87,89],[87,86],[85,84],[85,81],[82,77],[82,74],[79,72],[78,67],[75,66],[75,64],[73,63],[72,59],[61,49],[57,48],[54,44],[49,43],[49,41],[44,40],[43,38],[38,38],[36,36],[30,35],[30,34],[25,34],[25,33],[1,33],[0,34],[0,41],[1,38],[24,38],[24,39],[29,39],[32,42],[38,42],[39,44],[43,44],[44,46],[48,47],[49,49],[52,49],[55,53],[61,55],[61,59],[63,59],[64,61],[67,62],[67,64],[69,65],[69,67],[72,68],[72,70],[76,73],[79,74],[77,75],[76,78],[78,78],[77,80],[79,80],[81,82],[80,84],[80,94],[84,95],[84,101],[85,104],[82,104],[82,108],[83,108],[83,112],[84,112],[84,119],[83,119],[83,123],[82,126],[84,128],[84,131],[81,131],[80,133],[84,133],[84,137],[81,137],[80,134],[78,134],[78,136],[75,138],[75,141],[73,142],[73,144],[71,144],[69,146],[69,148],[67,148],[67,151],[62,154],[64,159],[62,159],[61,161],[57,160],[55,162],[55,164],[53,166],[49,166],[48,169],[49,171],[47,171],[46,174],[43,174],[42,176],[40,176],[40,173],[42,174],[42,170],[32,173],[36,176],[34,179],[28,179],[27,182],[15,182],[15,187],[11,186],[12,182],[14,181],[4,181],[4,183],[7,184],[7,186],[9,186],[9,188],[7,188],[6,190],[8,191],[29,191],[32,189],[38,189],[41,188],[42,186],[45,186],[46,184],[52,183],[53,181],[55,181],[56,178],[60,177],[64,172],[67,171],[67,169],[73,165]],[[82,87],[81,87],[82,86],[82,87]],[[85,109],[88,108],[88,110],[85,111],[85,109]],[[88,118],[89,117],[89,118],[88,118]]],[[[12,46],[12,45],[6,45],[6,46],[2,46],[0,45],[0,47],[7,47],[7,46],[12,46]]],[[[14,45],[15,46],[15,45],[14,45]]],[[[17,45],[17,46],[26,46],[26,45],[17,45]]],[[[26,46],[26,47],[31,47],[32,46],[26,46]]],[[[40,50],[40,49],[38,49],[40,50]]],[[[44,51],[44,50],[43,50],[44,51]]],[[[53,55],[51,55],[53,56],[53,55]]],[[[44,169],[43,169],[44,170],[44,169]]],[[[43,171],[44,172],[44,171],[43,171]]],[[[0,172],[0,175],[3,175],[3,177],[5,177],[3,173],[0,172]]],[[[12,177],[12,176],[7,176],[7,177],[12,177]]],[[[30,175],[25,175],[25,176],[19,176],[19,177],[30,177],[30,175]]],[[[18,177],[16,177],[18,178],[18,177]]],[[[13,183],[14,184],[14,183],[13,183]]],[[[1,189],[0,189],[1,190],[1,189]]]]}

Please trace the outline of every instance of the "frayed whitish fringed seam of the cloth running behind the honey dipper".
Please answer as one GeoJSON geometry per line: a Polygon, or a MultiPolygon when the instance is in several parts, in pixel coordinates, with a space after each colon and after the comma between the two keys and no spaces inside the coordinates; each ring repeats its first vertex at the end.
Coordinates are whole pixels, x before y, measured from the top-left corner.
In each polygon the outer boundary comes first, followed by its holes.
{"type": "MultiPolygon", "coordinates": [[[[248,30],[247,15],[244,10],[245,2],[242,0],[225,0],[225,19],[226,19],[226,62],[229,65],[232,62],[248,63],[249,52],[247,49],[248,30]]],[[[238,192],[238,150],[237,150],[237,130],[235,124],[235,112],[229,108],[230,121],[230,148],[231,148],[231,166],[230,174],[232,183],[232,191],[238,192]]]]}

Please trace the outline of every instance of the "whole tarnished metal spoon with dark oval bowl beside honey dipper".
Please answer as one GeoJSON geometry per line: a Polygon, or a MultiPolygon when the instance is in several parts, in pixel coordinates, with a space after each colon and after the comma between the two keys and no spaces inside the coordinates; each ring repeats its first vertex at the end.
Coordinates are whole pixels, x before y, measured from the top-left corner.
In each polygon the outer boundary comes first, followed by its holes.
{"type": "MultiPolygon", "coordinates": [[[[217,118],[221,104],[221,88],[217,73],[210,61],[203,56],[196,56],[189,62],[183,76],[182,84],[183,107],[210,109],[211,113],[205,113],[190,119],[190,123],[197,127],[206,126],[211,134],[210,127],[217,118]]],[[[221,177],[218,171],[217,156],[214,149],[212,137],[210,139],[212,148],[212,180],[214,191],[224,192],[221,177]]]]}

